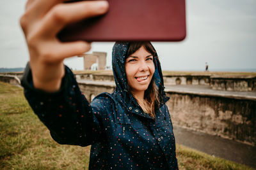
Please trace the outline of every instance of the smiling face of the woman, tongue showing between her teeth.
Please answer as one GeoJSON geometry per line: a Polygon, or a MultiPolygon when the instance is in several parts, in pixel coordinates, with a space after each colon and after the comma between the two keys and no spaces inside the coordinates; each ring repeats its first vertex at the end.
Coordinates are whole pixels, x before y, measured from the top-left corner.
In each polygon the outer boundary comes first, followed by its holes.
{"type": "Polygon", "coordinates": [[[125,60],[128,85],[134,93],[147,90],[154,72],[153,55],[148,53],[144,46],[125,60]]]}

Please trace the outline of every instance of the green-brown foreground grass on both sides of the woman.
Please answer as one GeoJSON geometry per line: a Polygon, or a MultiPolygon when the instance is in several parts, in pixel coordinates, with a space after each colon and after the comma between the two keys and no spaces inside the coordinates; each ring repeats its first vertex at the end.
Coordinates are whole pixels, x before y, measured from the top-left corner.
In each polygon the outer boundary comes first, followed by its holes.
{"type": "MultiPolygon", "coordinates": [[[[0,169],[88,169],[90,146],[58,145],[22,89],[0,82],[0,169]]],[[[180,169],[250,169],[177,145],[180,169]]]]}

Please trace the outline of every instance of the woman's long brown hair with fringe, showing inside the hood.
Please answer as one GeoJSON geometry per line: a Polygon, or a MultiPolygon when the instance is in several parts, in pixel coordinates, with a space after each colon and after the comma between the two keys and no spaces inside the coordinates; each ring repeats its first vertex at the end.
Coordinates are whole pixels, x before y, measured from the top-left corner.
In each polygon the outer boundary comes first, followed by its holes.
{"type": "MultiPolygon", "coordinates": [[[[131,55],[132,53],[136,52],[141,48],[141,46],[144,46],[147,52],[151,53],[153,57],[157,57],[156,50],[154,46],[149,41],[140,41],[140,42],[131,42],[129,45],[129,48],[127,50],[127,57],[131,55]]],[[[156,66],[156,63],[154,63],[156,66]]],[[[132,96],[138,101],[137,97],[132,93],[132,96]]],[[[145,113],[148,113],[150,117],[156,118],[156,109],[159,107],[160,99],[159,99],[159,93],[158,88],[156,86],[156,83],[154,81],[154,76],[152,77],[152,80],[150,81],[150,84],[148,85],[148,89],[145,90],[144,94],[144,100],[143,102],[138,103],[140,104],[142,110],[145,113]]]]}

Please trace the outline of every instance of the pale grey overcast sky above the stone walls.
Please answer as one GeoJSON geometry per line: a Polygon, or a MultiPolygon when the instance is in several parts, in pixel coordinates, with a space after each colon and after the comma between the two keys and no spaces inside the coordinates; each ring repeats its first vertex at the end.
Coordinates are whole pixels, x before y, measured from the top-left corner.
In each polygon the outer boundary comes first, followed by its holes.
{"type": "MultiPolygon", "coordinates": [[[[19,17],[25,0],[0,1],[0,67],[25,67],[28,50],[19,17]]],[[[209,69],[256,71],[256,1],[187,0],[187,37],[182,42],[153,43],[164,70],[209,69]]],[[[93,43],[92,50],[108,52],[112,43],[93,43]]],[[[65,60],[72,69],[83,69],[81,58],[65,60]]]]}

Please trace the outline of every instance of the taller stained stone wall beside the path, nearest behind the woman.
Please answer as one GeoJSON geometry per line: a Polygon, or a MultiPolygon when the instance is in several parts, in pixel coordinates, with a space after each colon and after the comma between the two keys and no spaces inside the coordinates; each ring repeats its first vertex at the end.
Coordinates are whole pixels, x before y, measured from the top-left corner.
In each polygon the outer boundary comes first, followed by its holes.
{"type": "MultiPolygon", "coordinates": [[[[77,81],[88,101],[102,92],[111,93],[115,89],[113,81],[77,81]]],[[[166,94],[170,97],[166,104],[173,124],[256,145],[256,94],[223,93],[201,87],[187,90],[166,87],[166,94]]]]}

